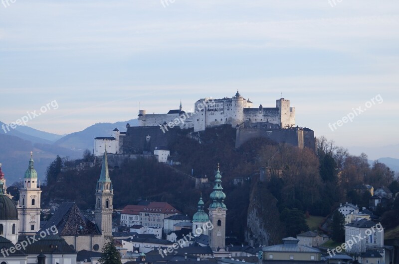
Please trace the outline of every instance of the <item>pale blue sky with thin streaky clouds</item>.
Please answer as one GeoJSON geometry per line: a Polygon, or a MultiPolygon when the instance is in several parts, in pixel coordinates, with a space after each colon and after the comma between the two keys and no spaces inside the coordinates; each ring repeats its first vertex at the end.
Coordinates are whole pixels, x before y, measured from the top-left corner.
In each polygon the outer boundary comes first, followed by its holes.
{"type": "Polygon", "coordinates": [[[399,144],[398,32],[394,0],[4,0],[0,121],[66,134],[238,89],[340,146],[399,144]]]}

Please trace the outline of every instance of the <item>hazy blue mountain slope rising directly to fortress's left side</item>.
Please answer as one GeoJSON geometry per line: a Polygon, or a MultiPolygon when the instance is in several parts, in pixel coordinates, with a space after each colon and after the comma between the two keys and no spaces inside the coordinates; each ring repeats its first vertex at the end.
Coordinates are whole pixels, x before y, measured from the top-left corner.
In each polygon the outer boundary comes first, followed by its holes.
{"type": "Polygon", "coordinates": [[[115,129],[115,127],[118,128],[119,131],[126,131],[127,123],[129,123],[131,126],[137,126],[138,120],[132,119],[116,123],[97,123],[95,125],[89,126],[82,131],[68,134],[57,140],[54,144],[59,147],[79,151],[80,153],[82,153],[85,149],[93,151],[94,138],[110,137],[111,132],[115,129]]]}

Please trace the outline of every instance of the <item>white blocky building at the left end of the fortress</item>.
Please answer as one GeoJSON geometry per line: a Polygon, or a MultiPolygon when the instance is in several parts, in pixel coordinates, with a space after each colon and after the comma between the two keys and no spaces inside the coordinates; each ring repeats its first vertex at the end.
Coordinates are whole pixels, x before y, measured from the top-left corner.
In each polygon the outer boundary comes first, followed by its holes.
{"type": "MultiPolygon", "coordinates": [[[[129,123],[126,127],[128,126],[130,126],[129,123]]],[[[107,149],[107,153],[121,154],[122,139],[125,135],[126,132],[120,132],[118,128],[115,128],[110,137],[96,137],[94,139],[94,155],[103,155],[105,149],[107,149]]]]}

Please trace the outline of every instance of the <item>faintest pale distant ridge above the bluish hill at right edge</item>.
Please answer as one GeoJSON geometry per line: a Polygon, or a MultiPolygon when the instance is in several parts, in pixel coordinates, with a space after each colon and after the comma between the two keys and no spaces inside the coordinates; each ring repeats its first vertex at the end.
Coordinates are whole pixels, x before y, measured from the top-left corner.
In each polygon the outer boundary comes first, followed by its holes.
{"type": "Polygon", "coordinates": [[[377,160],[380,157],[399,159],[399,144],[381,147],[352,146],[349,147],[348,150],[352,155],[360,155],[362,152],[364,152],[367,154],[367,156],[369,156],[370,160],[377,160]]]}

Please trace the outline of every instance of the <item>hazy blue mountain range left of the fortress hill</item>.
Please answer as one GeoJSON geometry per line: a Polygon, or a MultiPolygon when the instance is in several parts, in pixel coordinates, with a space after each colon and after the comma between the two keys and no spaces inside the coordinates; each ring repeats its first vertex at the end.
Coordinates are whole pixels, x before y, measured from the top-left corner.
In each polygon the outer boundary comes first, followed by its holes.
{"type": "Polygon", "coordinates": [[[4,123],[0,122],[0,163],[2,163],[7,185],[23,178],[29,165],[31,151],[35,161],[34,168],[43,181],[46,178],[47,167],[57,155],[69,157],[69,159],[81,158],[85,149],[93,151],[95,137],[110,136],[115,127],[120,131],[126,131],[127,122],[131,126],[138,125],[137,119],[99,123],[63,137],[26,126],[9,128],[9,131],[5,128],[6,132],[4,132],[1,128],[4,123]]]}

